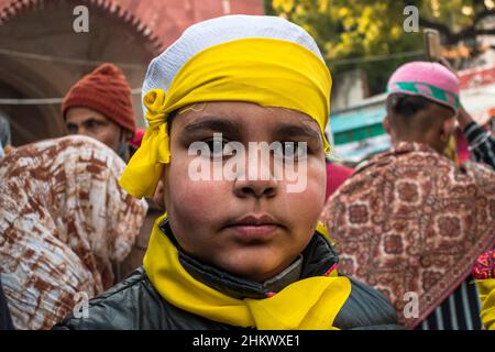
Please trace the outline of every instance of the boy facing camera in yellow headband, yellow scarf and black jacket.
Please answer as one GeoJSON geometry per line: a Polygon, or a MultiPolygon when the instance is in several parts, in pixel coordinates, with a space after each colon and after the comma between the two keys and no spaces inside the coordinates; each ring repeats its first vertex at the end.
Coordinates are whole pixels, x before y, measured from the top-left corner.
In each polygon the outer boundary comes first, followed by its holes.
{"type": "Polygon", "coordinates": [[[383,295],[338,276],[318,226],[330,87],[315,42],[286,20],[232,15],[188,29],[147,70],[150,127],[121,178],[135,197],[162,179],[167,215],[144,267],[59,328],[396,328],[383,295]],[[272,168],[258,175],[266,163],[252,163],[251,150],[263,143],[302,187],[272,168]],[[222,177],[191,177],[197,162],[222,177]]]}

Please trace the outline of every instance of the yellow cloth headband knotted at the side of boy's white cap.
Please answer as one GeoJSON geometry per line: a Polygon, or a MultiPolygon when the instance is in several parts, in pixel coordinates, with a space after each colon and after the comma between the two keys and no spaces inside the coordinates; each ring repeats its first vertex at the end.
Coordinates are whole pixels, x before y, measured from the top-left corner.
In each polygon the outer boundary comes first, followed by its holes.
{"type": "Polygon", "coordinates": [[[165,94],[150,90],[143,102],[148,127],[120,185],[130,195],[153,197],[163,164],[170,161],[167,117],[205,101],[246,101],[304,112],[324,127],[330,112],[330,73],[311,51],[288,41],[243,38],[211,46],[193,56],[165,94]]]}

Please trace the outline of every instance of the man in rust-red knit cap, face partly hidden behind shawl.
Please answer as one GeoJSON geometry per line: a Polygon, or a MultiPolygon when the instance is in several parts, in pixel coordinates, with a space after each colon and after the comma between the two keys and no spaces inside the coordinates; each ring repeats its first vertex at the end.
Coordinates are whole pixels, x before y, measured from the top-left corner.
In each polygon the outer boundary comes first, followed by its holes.
{"type": "Polygon", "coordinates": [[[97,139],[129,161],[127,141],[135,132],[135,116],[131,89],[117,66],[103,64],[73,86],[62,116],[68,133],[97,139]]]}

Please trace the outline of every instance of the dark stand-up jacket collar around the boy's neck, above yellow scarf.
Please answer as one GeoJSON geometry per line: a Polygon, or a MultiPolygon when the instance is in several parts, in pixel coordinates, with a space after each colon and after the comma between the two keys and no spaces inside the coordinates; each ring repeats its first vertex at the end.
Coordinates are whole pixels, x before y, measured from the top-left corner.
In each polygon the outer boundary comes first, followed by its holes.
{"type": "Polygon", "coordinates": [[[261,284],[204,264],[186,254],[175,240],[168,219],[160,224],[160,229],[177,248],[180,264],[194,278],[238,299],[266,298],[298,279],[328,275],[330,271],[337,267],[339,261],[327,239],[316,232],[301,255],[287,270],[261,284]]]}

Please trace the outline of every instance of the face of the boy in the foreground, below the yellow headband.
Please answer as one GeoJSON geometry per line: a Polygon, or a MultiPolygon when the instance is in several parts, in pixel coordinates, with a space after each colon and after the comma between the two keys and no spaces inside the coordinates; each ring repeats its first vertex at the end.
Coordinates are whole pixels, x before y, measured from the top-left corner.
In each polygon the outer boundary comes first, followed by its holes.
{"type": "MultiPolygon", "coordinates": [[[[318,124],[301,112],[248,102],[194,108],[183,109],[170,129],[172,160],[164,170],[164,193],[172,229],[188,254],[263,282],[305,249],[322,210],[326,166],[318,124]],[[188,155],[188,148],[194,142],[211,142],[213,133],[222,133],[223,142],[242,143],[246,152],[249,142],[306,142],[307,172],[299,175],[307,177],[306,187],[289,193],[280,178],[193,180],[189,164],[198,156],[188,155]]],[[[213,158],[208,163],[213,165],[213,158]]],[[[244,165],[248,174],[249,162],[244,165]]]]}

